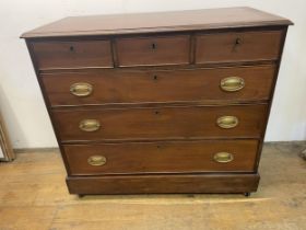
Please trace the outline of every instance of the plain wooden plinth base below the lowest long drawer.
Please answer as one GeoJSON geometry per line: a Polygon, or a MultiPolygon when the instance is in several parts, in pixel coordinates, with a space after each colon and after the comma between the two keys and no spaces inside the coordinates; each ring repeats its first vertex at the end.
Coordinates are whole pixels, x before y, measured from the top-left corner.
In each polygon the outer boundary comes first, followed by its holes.
{"type": "Polygon", "coordinates": [[[172,194],[256,192],[258,174],[69,176],[71,194],[172,194]]]}

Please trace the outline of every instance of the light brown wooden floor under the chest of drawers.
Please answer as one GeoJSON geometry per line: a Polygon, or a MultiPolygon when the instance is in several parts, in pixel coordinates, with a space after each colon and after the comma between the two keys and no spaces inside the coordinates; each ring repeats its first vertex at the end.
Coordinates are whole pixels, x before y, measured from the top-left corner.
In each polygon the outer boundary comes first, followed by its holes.
{"type": "Polygon", "coordinates": [[[0,164],[0,230],[305,230],[305,143],[266,145],[259,191],[243,195],[69,195],[58,152],[0,164]]]}

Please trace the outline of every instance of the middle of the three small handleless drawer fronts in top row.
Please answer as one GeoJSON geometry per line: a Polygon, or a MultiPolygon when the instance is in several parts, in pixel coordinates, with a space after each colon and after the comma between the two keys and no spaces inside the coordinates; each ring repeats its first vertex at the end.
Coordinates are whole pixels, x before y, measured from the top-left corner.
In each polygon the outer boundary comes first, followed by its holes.
{"type": "Polygon", "coordinates": [[[189,62],[189,36],[116,39],[119,66],[179,65],[189,62]]]}

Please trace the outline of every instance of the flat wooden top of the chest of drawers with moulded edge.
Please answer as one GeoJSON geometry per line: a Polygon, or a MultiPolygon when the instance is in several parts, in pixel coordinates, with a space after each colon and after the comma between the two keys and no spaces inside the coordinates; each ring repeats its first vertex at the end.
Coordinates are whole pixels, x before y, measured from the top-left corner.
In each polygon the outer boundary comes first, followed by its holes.
{"type": "Polygon", "coordinates": [[[69,16],[24,33],[22,37],[114,35],[289,24],[292,24],[290,20],[251,8],[221,8],[69,16]]]}

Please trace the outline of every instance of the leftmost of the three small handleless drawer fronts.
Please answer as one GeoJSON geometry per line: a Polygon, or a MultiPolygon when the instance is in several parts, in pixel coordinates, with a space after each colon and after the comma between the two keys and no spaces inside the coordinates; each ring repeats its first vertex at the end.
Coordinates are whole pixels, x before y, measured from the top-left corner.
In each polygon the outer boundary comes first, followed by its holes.
{"type": "Polygon", "coordinates": [[[39,69],[113,67],[109,41],[35,42],[39,69]]]}

